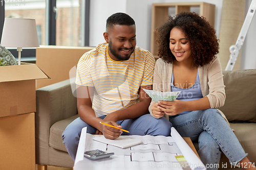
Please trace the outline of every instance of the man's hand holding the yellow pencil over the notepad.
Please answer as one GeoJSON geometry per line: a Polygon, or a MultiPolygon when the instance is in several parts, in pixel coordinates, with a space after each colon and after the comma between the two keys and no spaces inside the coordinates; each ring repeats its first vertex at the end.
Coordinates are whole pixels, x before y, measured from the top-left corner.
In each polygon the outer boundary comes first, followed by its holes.
{"type": "MultiPolygon", "coordinates": [[[[118,125],[116,122],[112,122],[112,121],[105,122],[104,121],[104,123],[115,126],[117,128],[122,128],[122,126],[118,125]]],[[[97,131],[96,131],[96,133],[97,133],[97,131]]],[[[99,133],[100,133],[100,131],[99,131],[99,133]]],[[[116,139],[122,134],[122,130],[112,128],[112,127],[109,127],[106,125],[102,125],[102,134],[104,135],[104,137],[106,139],[116,139]]]]}

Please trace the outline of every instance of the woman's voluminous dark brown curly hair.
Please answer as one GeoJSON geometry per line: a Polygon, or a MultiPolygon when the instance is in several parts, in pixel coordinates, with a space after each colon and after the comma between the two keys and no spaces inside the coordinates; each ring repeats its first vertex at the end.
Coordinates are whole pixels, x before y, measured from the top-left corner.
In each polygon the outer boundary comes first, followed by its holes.
{"type": "Polygon", "coordinates": [[[172,63],[176,60],[169,48],[170,31],[173,28],[184,32],[191,46],[194,66],[208,64],[219,53],[219,40],[209,22],[195,12],[181,12],[174,17],[168,16],[168,21],[156,30],[158,56],[165,62],[172,63]]]}

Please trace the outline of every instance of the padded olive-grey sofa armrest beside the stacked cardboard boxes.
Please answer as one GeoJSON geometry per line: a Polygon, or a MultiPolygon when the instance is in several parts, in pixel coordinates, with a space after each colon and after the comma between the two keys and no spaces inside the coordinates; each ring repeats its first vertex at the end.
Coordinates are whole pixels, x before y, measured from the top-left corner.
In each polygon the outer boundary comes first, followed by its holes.
{"type": "MultiPolygon", "coordinates": [[[[74,81],[72,82],[74,84],[74,81]]],[[[36,163],[47,164],[51,126],[59,120],[77,114],[76,98],[70,80],[36,90],[35,137],[36,163]],[[40,161],[39,161],[40,160],[40,161]]]]}

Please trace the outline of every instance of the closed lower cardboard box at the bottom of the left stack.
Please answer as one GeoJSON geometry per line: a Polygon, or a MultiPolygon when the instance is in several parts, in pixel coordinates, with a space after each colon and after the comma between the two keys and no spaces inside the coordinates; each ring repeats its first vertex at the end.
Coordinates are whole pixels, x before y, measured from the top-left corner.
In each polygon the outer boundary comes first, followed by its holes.
{"type": "Polygon", "coordinates": [[[0,169],[35,169],[35,113],[0,117],[0,169]]]}

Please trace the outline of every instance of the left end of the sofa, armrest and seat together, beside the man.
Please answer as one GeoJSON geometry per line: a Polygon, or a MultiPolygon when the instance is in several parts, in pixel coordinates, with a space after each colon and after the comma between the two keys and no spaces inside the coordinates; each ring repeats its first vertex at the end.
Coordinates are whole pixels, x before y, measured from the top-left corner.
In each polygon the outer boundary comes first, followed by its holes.
{"type": "Polygon", "coordinates": [[[61,139],[63,130],[78,117],[70,80],[37,89],[36,109],[36,164],[73,167],[61,139]]]}

